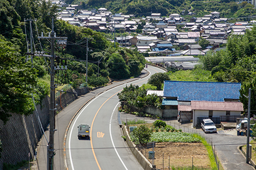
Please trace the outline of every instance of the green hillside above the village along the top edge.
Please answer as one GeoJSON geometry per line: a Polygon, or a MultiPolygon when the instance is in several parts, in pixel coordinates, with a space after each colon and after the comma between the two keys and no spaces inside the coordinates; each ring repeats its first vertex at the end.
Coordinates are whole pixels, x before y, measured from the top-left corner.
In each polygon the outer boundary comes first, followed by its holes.
{"type": "MultiPolygon", "coordinates": [[[[68,4],[79,4],[76,0],[66,0],[68,4]]],[[[243,2],[237,4],[230,0],[188,1],[188,0],[88,0],[87,8],[106,8],[112,13],[134,14],[135,17],[149,16],[151,13],[161,13],[169,16],[172,13],[183,14],[183,17],[203,17],[210,12],[218,11],[221,17],[237,18],[254,16],[256,10],[252,4],[243,2]],[[190,12],[190,13],[189,13],[190,12]]],[[[246,18],[245,18],[246,19],[246,18]]]]}

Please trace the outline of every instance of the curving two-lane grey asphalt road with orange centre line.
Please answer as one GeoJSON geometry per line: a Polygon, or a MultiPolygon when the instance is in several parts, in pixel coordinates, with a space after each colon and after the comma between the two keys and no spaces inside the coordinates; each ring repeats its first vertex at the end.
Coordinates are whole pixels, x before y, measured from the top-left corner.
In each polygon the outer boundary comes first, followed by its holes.
{"type": "Polygon", "coordinates": [[[121,137],[117,121],[117,93],[126,85],[147,83],[151,74],[164,72],[148,67],[149,76],[114,87],[90,101],[72,121],[67,134],[66,156],[68,169],[142,169],[121,137]],[[78,140],[77,126],[91,126],[90,140],[78,140]]]}

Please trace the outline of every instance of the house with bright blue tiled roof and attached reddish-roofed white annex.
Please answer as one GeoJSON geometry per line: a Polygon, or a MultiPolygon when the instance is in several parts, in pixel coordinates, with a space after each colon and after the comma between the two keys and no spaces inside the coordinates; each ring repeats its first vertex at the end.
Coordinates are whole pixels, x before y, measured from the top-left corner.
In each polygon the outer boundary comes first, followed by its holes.
{"type": "Polygon", "coordinates": [[[190,113],[193,126],[198,125],[200,118],[220,121],[221,116],[240,116],[240,88],[240,83],[164,81],[162,105],[176,101],[179,112],[190,113]]]}

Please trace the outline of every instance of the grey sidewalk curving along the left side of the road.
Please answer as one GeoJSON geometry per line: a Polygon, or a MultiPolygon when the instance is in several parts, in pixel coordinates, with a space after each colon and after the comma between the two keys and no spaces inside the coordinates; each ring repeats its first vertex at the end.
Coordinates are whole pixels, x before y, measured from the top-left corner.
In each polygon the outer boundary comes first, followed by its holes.
{"type": "MultiPolygon", "coordinates": [[[[55,158],[54,158],[54,169],[66,169],[65,167],[65,152],[63,143],[65,139],[65,135],[67,132],[67,127],[69,123],[72,121],[73,117],[77,114],[77,111],[80,110],[88,101],[92,100],[95,96],[101,94],[102,92],[109,90],[115,86],[119,86],[121,84],[130,83],[131,81],[141,79],[147,76],[147,71],[142,70],[141,75],[137,78],[127,79],[123,81],[114,81],[111,85],[101,87],[99,89],[88,92],[85,95],[79,96],[77,100],[73,101],[70,105],[65,107],[61,112],[59,112],[55,117],[55,158]]],[[[36,161],[33,162],[32,169],[37,170],[45,170],[47,169],[47,141],[49,140],[49,131],[45,131],[46,137],[42,136],[40,142],[38,142],[37,147],[37,158],[36,161]]]]}

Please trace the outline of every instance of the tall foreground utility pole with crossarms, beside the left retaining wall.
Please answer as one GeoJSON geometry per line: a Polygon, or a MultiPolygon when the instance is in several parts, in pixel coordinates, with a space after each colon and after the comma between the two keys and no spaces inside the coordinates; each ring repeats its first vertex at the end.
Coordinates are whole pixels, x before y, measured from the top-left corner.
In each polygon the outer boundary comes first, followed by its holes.
{"type": "MultiPolygon", "coordinates": [[[[38,37],[40,39],[51,39],[51,56],[45,55],[50,57],[51,60],[51,94],[50,94],[50,137],[49,137],[49,142],[47,145],[47,170],[53,170],[53,157],[55,155],[54,152],[54,132],[56,131],[55,129],[55,63],[54,59],[56,58],[54,54],[54,48],[55,48],[55,40],[56,39],[64,39],[66,40],[67,37],[56,37],[56,33],[53,30],[53,17],[52,17],[52,31],[50,34],[50,37],[38,37]]],[[[65,66],[66,68],[66,66],[65,66]]]]}

